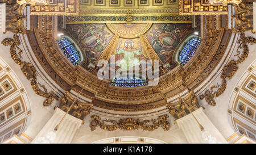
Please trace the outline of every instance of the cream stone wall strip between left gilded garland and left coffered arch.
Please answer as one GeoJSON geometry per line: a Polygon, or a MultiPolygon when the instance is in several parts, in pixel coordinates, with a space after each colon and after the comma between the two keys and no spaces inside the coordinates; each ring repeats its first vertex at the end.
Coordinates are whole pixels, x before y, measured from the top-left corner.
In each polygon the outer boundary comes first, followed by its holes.
{"type": "MultiPolygon", "coordinates": [[[[13,38],[13,33],[7,32],[5,34],[1,34],[0,41],[5,39],[6,37],[13,38]]],[[[22,45],[20,45],[20,48],[23,49],[22,45]]],[[[22,56],[24,60],[28,61],[26,55],[23,54],[22,56]]],[[[20,82],[24,86],[24,89],[27,91],[27,96],[31,103],[31,122],[30,125],[27,127],[26,131],[24,132],[32,139],[34,139],[40,129],[43,128],[44,124],[46,124],[49,118],[51,118],[54,111],[53,107],[55,107],[57,101],[55,100],[49,107],[43,107],[43,102],[45,98],[36,95],[34,90],[32,90],[32,87],[30,86],[30,81],[28,81],[27,78],[23,75],[22,71],[20,70],[20,66],[16,64],[11,58],[9,46],[6,47],[0,44],[0,57],[2,57],[3,60],[7,62],[11,69],[13,69],[14,73],[19,77],[20,82]]],[[[46,85],[47,87],[47,83],[43,81],[40,81],[40,83],[42,83],[42,85],[46,85]]]]}

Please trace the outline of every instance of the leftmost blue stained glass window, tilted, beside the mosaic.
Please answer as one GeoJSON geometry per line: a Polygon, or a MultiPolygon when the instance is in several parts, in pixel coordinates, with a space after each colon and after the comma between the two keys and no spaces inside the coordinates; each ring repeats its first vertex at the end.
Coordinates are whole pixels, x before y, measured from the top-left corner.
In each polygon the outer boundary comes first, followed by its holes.
{"type": "Polygon", "coordinates": [[[72,45],[72,43],[65,38],[58,40],[57,43],[68,60],[73,65],[77,66],[80,62],[80,56],[79,52],[76,51],[76,48],[72,45]]]}

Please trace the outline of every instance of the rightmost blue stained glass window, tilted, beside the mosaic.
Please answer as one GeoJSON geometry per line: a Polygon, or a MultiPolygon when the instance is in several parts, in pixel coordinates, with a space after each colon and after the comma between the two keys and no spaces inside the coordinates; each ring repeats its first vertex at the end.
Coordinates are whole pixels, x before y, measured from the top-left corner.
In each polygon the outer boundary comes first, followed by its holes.
{"type": "Polygon", "coordinates": [[[193,56],[196,49],[199,47],[200,42],[200,37],[193,37],[187,42],[187,44],[184,45],[179,55],[179,62],[181,65],[185,65],[188,60],[193,56]]]}

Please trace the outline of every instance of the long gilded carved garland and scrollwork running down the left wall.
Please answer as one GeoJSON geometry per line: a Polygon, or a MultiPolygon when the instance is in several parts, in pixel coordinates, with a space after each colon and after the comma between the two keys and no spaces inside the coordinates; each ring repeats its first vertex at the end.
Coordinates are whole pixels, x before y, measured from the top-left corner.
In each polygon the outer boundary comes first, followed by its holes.
{"type": "Polygon", "coordinates": [[[29,62],[25,62],[22,60],[22,49],[19,48],[20,40],[18,33],[23,33],[21,24],[23,22],[24,16],[16,14],[16,10],[20,9],[19,5],[17,7],[16,3],[14,3],[13,9],[10,9],[8,11],[8,14],[13,14],[14,18],[12,22],[9,23],[9,26],[11,28],[7,28],[7,31],[14,32],[14,39],[11,38],[6,38],[2,40],[2,44],[5,46],[11,46],[10,47],[10,53],[11,53],[11,58],[15,61],[16,64],[20,66],[20,69],[22,70],[24,76],[30,80],[30,85],[32,89],[35,91],[37,95],[40,95],[41,97],[46,98],[43,102],[43,106],[49,106],[54,99],[59,99],[59,97],[53,93],[53,91],[48,92],[46,87],[41,85],[40,83],[36,82],[37,81],[37,76],[38,74],[36,73],[35,67],[30,64],[29,62]],[[15,11],[14,11],[15,10],[15,11]],[[14,11],[14,12],[13,12],[14,11]],[[18,54],[17,54],[18,52],[18,54]],[[42,87],[42,89],[40,89],[42,87]]]}

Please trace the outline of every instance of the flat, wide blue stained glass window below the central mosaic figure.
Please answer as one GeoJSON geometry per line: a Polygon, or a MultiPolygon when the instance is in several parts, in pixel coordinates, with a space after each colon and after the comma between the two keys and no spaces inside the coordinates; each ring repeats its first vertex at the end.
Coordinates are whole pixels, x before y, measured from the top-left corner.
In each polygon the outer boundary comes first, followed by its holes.
{"type": "Polygon", "coordinates": [[[119,87],[138,87],[138,86],[146,86],[148,85],[145,79],[137,78],[137,77],[121,77],[115,78],[111,85],[119,86],[119,87]]]}

